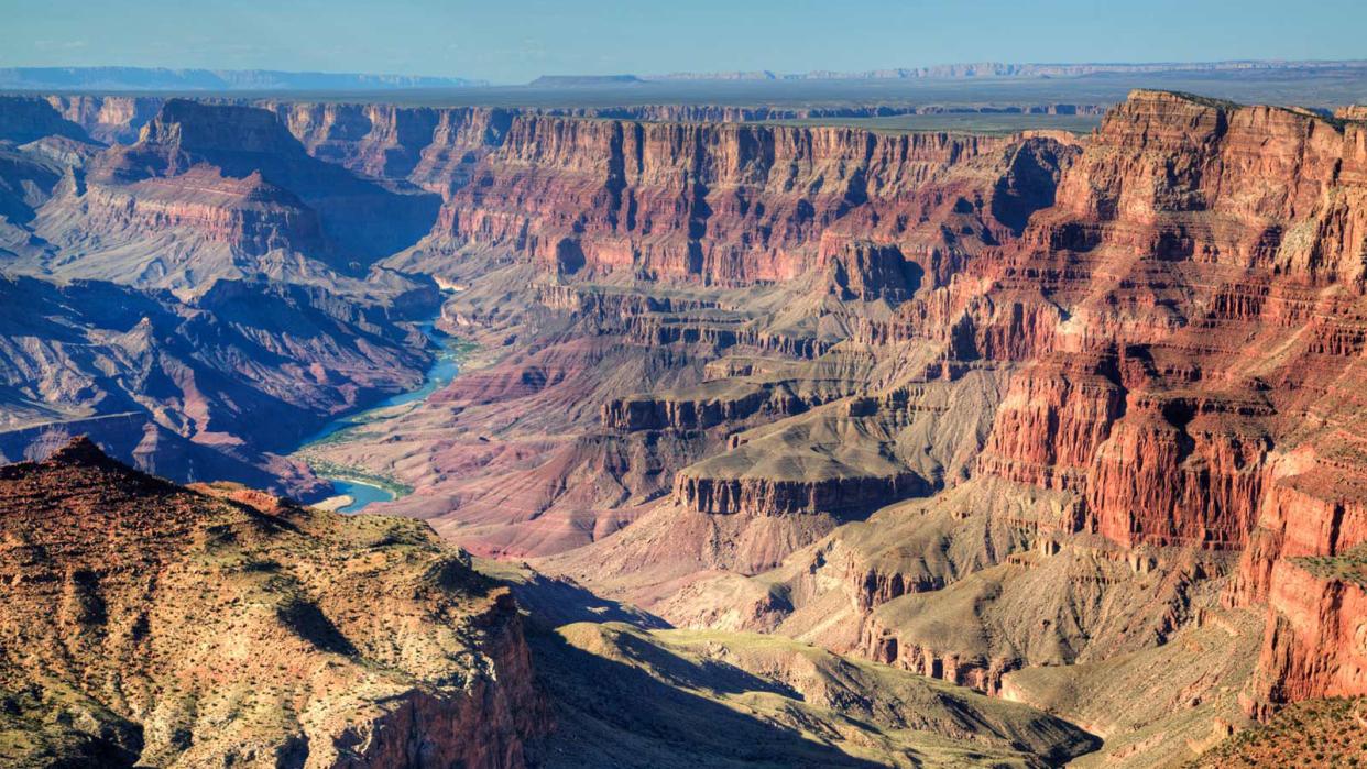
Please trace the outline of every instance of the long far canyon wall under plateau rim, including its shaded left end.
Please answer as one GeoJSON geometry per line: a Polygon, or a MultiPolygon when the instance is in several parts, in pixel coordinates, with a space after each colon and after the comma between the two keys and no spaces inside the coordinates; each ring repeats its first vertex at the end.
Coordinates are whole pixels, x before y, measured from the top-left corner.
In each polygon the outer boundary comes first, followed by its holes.
{"type": "MultiPolygon", "coordinates": [[[[511,249],[558,275],[712,284],[789,280],[834,261],[860,296],[871,287],[850,268],[883,253],[842,258],[848,242],[897,244],[906,261],[939,269],[956,239],[928,221],[990,209],[990,238],[1018,228],[1050,205],[1073,153],[1059,138],[681,123],[658,111],[265,107],[317,157],[442,193],[437,253],[511,249]],[[1014,164],[1005,176],[1002,163],[1014,164]]],[[[440,257],[421,264],[450,270],[440,257]]],[[[880,264],[869,269],[875,284],[915,290],[880,264]]]]}

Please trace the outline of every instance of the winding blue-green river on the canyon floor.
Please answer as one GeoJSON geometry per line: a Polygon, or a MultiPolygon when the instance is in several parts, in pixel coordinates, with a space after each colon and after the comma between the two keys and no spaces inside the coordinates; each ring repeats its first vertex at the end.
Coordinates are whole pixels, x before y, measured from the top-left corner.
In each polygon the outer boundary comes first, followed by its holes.
{"type": "Polygon", "coordinates": [[[305,438],[303,443],[299,444],[299,448],[294,449],[295,456],[306,462],[320,478],[332,484],[336,496],[351,497],[351,501],[346,505],[336,508],[338,512],[360,512],[373,503],[390,501],[401,496],[401,493],[407,493],[407,489],[395,481],[373,475],[365,469],[336,466],[314,456],[309,456],[309,449],[331,443],[344,443],[346,430],[379,422],[390,417],[385,411],[398,406],[425,400],[429,395],[446,387],[447,382],[461,373],[461,356],[468,350],[468,346],[462,344],[455,337],[442,333],[431,322],[422,324],[420,328],[422,329],[422,333],[425,333],[427,337],[435,341],[440,348],[436,355],[436,361],[432,362],[432,367],[428,369],[427,376],[422,380],[422,387],[390,396],[362,411],[354,411],[344,417],[338,417],[324,425],[317,433],[305,438]]]}

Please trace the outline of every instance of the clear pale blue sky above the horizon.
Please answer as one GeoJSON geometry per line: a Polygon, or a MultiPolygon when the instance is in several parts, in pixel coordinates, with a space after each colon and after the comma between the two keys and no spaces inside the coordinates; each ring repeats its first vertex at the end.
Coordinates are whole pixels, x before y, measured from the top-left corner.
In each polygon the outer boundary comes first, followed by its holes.
{"type": "Polygon", "coordinates": [[[1367,57],[1367,0],[0,0],[0,66],[541,74],[1367,57]]]}

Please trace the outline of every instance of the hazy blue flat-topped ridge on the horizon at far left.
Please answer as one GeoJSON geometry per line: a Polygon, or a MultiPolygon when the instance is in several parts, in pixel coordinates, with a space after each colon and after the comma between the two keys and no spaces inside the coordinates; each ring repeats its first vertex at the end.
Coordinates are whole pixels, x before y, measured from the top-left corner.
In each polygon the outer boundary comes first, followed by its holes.
{"type": "Polygon", "coordinates": [[[150,67],[5,67],[11,90],[394,90],[485,86],[466,78],[283,72],[276,70],[165,70],[150,67]]]}

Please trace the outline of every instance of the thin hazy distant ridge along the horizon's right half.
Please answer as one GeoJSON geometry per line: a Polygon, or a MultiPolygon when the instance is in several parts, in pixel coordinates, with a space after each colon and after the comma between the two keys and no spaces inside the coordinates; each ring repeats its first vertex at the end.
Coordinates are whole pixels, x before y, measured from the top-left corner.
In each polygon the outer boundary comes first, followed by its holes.
{"type": "Polygon", "coordinates": [[[1344,61],[1286,61],[1286,60],[1230,60],[1230,61],[1155,61],[1133,63],[1079,63],[1079,64],[1009,64],[979,61],[964,64],[936,64],[931,67],[902,67],[839,72],[812,70],[808,72],[774,72],[770,70],[745,72],[668,72],[645,75],[645,81],[879,81],[879,79],[969,79],[969,78],[1077,78],[1105,74],[1143,72],[1234,72],[1275,70],[1367,70],[1367,60],[1344,61]]]}

